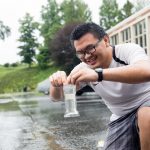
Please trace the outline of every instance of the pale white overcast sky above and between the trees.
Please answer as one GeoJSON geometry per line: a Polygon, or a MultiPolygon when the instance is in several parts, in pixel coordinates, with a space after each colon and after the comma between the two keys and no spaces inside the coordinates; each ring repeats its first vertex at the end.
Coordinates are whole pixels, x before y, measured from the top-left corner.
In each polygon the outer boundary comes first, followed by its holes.
{"type": "MultiPolygon", "coordinates": [[[[102,0],[84,1],[92,11],[93,21],[99,23],[98,13],[102,0]]],[[[120,2],[120,5],[123,5],[126,0],[121,0],[120,2]]],[[[0,64],[20,61],[20,57],[17,55],[20,51],[17,48],[19,43],[16,41],[19,38],[18,20],[28,12],[38,21],[40,18],[41,6],[46,3],[47,0],[0,0],[0,20],[11,28],[11,36],[6,38],[5,41],[0,40],[0,64]]]]}

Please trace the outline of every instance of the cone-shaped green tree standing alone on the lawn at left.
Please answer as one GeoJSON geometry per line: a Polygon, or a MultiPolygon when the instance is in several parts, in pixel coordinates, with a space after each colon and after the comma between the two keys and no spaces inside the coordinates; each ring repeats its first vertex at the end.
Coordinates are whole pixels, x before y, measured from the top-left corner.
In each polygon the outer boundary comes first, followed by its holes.
{"type": "Polygon", "coordinates": [[[22,20],[19,20],[21,26],[19,31],[21,33],[18,41],[22,43],[18,48],[21,49],[19,55],[22,58],[23,63],[27,63],[29,67],[33,62],[36,54],[36,48],[38,47],[37,38],[35,37],[35,31],[38,28],[38,23],[33,21],[33,17],[30,14],[26,14],[22,20]]]}

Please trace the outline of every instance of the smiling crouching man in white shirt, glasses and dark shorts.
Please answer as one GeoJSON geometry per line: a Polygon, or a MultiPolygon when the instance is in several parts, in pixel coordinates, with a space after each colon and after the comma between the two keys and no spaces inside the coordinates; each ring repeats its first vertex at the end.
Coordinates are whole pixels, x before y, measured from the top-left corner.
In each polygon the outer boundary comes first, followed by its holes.
{"type": "Polygon", "coordinates": [[[95,23],[78,25],[71,43],[82,63],[68,77],[64,71],[50,76],[51,97],[63,97],[63,84],[90,85],[112,112],[104,149],[150,150],[150,59],[144,49],[111,46],[95,23]]]}

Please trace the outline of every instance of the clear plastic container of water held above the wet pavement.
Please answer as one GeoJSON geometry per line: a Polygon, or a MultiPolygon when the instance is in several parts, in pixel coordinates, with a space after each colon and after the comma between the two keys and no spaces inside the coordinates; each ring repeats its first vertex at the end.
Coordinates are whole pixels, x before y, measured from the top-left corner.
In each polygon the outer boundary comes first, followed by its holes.
{"type": "Polygon", "coordinates": [[[64,117],[77,117],[80,116],[77,110],[76,102],[76,86],[73,84],[67,84],[63,86],[65,109],[64,117]]]}

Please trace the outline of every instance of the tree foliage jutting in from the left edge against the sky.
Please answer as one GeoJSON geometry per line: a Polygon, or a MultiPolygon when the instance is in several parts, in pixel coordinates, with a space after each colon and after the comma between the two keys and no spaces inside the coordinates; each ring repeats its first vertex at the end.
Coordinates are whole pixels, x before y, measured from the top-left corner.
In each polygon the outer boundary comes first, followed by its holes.
{"type": "Polygon", "coordinates": [[[0,20],[0,39],[4,40],[6,37],[10,35],[10,28],[0,20]]]}

